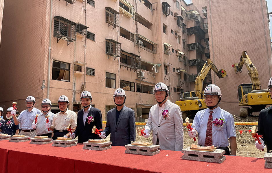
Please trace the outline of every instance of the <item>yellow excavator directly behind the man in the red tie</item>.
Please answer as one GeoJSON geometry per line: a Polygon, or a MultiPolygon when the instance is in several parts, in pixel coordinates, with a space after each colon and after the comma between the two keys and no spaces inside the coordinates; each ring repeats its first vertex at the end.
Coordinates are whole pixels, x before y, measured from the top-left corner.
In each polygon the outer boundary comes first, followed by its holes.
{"type": "Polygon", "coordinates": [[[218,70],[211,59],[207,59],[198,76],[196,76],[194,91],[183,93],[183,98],[176,101],[181,111],[183,112],[183,118],[195,115],[196,112],[202,109],[206,109],[207,105],[204,102],[203,94],[203,80],[207,76],[209,70],[212,69],[218,78],[224,78],[227,72],[223,69],[218,70]]]}

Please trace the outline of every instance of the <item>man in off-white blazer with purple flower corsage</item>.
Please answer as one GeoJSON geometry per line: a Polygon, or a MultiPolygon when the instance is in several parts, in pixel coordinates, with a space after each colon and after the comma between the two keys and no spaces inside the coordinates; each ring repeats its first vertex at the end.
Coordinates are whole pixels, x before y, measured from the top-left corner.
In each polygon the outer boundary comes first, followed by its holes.
{"type": "Polygon", "coordinates": [[[169,90],[166,84],[155,85],[155,98],[158,104],[151,107],[145,126],[145,138],[153,130],[153,144],[162,150],[181,151],[183,149],[183,122],[180,107],[167,99],[169,90]]]}

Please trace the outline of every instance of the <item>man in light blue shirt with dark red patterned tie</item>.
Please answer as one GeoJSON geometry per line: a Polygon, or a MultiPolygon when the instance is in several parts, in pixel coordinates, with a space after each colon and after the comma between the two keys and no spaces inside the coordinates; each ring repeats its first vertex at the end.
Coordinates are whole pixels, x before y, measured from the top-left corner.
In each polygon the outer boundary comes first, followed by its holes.
{"type": "Polygon", "coordinates": [[[188,131],[190,138],[198,136],[200,146],[218,146],[225,150],[224,155],[236,155],[236,130],[233,116],[218,106],[222,94],[215,84],[206,86],[204,91],[207,109],[196,113],[192,124],[192,132],[188,131]],[[220,121],[222,120],[222,121],[220,121]],[[228,140],[229,139],[229,140],[228,140]],[[229,146],[231,151],[229,152],[229,146]]]}

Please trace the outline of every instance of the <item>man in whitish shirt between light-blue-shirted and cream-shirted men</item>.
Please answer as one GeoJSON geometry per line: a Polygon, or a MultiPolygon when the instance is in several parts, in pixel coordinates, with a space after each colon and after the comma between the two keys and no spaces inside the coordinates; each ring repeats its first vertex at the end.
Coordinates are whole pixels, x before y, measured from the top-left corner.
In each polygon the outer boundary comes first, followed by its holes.
{"type": "Polygon", "coordinates": [[[35,124],[35,121],[33,121],[32,128],[36,129],[36,136],[48,136],[48,138],[51,138],[52,130],[49,129],[48,131],[48,128],[45,127],[46,124],[47,124],[47,127],[51,126],[53,117],[55,115],[50,111],[52,106],[51,101],[49,99],[43,99],[41,106],[42,106],[43,113],[38,115],[36,124],[35,124]],[[48,123],[46,122],[47,118],[45,118],[45,116],[47,115],[49,116],[48,123]]]}

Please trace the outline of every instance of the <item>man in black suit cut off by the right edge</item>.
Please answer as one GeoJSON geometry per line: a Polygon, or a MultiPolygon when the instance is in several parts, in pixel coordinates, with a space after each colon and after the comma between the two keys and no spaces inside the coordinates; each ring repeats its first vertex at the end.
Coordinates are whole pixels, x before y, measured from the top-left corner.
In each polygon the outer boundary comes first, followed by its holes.
{"type": "MultiPolygon", "coordinates": [[[[268,91],[271,97],[271,90],[272,90],[272,78],[270,78],[268,82],[268,91]]],[[[262,150],[265,148],[265,144],[267,146],[267,153],[272,150],[272,106],[261,110],[258,120],[258,135],[262,135],[260,139],[261,144],[258,141],[255,142],[256,148],[262,150]]]]}

